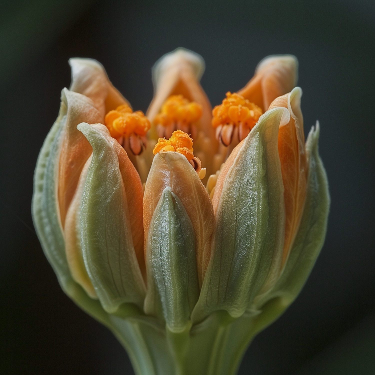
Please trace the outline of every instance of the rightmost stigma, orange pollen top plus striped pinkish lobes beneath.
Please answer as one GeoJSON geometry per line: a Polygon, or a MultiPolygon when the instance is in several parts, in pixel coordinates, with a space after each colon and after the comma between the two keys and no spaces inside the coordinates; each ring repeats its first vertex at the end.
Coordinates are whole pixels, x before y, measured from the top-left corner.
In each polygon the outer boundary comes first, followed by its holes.
{"type": "Polygon", "coordinates": [[[256,104],[239,94],[226,93],[222,104],[212,110],[212,126],[216,128],[216,138],[223,145],[231,144],[234,133],[242,141],[255,126],[262,110],[256,104]]]}

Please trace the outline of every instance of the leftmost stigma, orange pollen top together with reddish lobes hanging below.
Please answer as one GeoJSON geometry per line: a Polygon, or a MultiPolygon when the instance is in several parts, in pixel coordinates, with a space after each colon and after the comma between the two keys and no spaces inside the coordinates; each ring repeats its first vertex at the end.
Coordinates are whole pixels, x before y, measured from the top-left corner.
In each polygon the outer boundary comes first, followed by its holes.
{"type": "Polygon", "coordinates": [[[151,124],[142,111],[133,112],[127,104],[120,105],[113,111],[109,111],[104,118],[113,138],[121,144],[129,144],[134,155],[142,153],[147,142],[146,133],[151,124]]]}

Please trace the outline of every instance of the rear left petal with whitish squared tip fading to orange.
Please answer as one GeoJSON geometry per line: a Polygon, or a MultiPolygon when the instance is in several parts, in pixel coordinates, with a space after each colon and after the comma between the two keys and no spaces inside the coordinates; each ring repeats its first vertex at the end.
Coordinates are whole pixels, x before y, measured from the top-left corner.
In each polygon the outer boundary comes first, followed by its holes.
{"type": "MultiPolygon", "coordinates": [[[[121,104],[130,105],[114,88],[101,63],[91,58],[71,58],[72,83],[69,90],[90,98],[99,113],[102,123],[104,115],[121,104]]],[[[89,121],[86,121],[89,122],[89,121]]]]}

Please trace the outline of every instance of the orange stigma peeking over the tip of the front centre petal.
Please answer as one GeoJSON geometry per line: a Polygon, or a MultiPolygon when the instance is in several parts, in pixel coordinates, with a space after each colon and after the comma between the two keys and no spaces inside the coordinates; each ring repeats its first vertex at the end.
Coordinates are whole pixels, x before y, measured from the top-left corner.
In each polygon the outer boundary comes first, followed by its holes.
{"type": "Polygon", "coordinates": [[[189,134],[182,130],[175,130],[169,139],[159,138],[152,152],[156,155],[159,152],[168,151],[183,154],[198,173],[199,178],[202,180],[205,177],[206,168],[202,168],[201,160],[194,156],[193,139],[189,134]]]}

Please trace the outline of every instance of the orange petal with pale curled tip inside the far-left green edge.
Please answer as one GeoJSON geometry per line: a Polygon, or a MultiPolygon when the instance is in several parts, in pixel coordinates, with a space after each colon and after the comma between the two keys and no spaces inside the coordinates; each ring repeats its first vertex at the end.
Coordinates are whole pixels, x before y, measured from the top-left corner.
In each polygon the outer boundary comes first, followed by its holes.
{"type": "Polygon", "coordinates": [[[61,100],[67,108],[58,163],[58,203],[64,228],[65,216],[77,188],[82,168],[92,153],[90,143],[77,130],[77,125],[81,122],[99,122],[101,114],[91,99],[68,89],[62,90],[61,100]]]}

